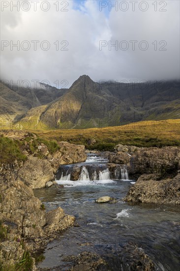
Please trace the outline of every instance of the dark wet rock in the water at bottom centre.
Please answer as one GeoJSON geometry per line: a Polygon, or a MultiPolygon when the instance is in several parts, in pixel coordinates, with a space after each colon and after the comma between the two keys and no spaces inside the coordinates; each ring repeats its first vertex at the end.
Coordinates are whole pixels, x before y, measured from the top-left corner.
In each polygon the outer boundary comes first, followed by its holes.
{"type": "Polygon", "coordinates": [[[103,271],[107,265],[99,255],[92,252],[82,252],[77,256],[66,256],[63,258],[64,262],[73,262],[73,267],[69,271],[103,271]]]}

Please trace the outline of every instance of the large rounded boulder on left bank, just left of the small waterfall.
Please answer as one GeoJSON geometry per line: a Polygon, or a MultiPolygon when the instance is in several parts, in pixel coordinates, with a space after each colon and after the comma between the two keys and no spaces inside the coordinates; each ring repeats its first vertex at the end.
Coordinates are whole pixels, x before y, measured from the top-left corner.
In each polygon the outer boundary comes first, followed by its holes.
{"type": "Polygon", "coordinates": [[[31,188],[45,187],[46,183],[54,179],[54,169],[45,159],[29,156],[17,174],[17,180],[22,180],[31,188]]]}

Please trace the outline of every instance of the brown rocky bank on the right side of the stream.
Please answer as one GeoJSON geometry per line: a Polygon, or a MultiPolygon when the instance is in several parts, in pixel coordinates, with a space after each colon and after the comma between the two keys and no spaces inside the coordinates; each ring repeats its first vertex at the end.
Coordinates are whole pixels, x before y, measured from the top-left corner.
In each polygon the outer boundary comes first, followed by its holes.
{"type": "Polygon", "coordinates": [[[126,165],[129,176],[137,180],[124,201],[180,204],[180,147],[115,147],[109,153],[109,170],[126,165]]]}

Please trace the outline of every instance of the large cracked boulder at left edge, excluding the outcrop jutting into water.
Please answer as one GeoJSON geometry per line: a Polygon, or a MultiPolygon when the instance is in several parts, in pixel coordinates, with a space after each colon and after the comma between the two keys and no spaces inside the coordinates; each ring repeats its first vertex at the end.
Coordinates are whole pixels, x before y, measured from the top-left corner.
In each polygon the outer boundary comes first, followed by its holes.
{"type": "Polygon", "coordinates": [[[22,181],[9,181],[0,186],[0,218],[17,225],[16,232],[23,237],[43,236],[45,211],[33,191],[22,181]],[[4,193],[2,193],[4,192],[4,193]]]}

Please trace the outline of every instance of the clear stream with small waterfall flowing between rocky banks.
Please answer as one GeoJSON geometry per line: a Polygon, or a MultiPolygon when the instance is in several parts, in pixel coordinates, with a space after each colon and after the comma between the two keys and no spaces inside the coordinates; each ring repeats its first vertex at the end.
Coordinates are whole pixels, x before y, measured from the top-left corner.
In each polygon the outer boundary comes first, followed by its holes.
{"type": "Polygon", "coordinates": [[[74,215],[78,224],[48,244],[39,267],[53,271],[60,266],[65,271],[72,264],[63,262],[64,256],[90,251],[107,261],[107,270],[126,271],[129,269],[121,267],[119,255],[130,242],[144,249],[156,270],[179,271],[180,206],[123,202],[134,181],[128,179],[125,166],[117,167],[112,179],[107,163],[106,158],[88,154],[85,163],[60,167],[56,181],[64,187],[34,190],[34,196],[45,204],[46,210],[60,206],[66,214],[74,215]],[[76,181],[71,180],[74,168],[81,169],[76,181]],[[102,196],[118,201],[95,203],[102,196]]]}

